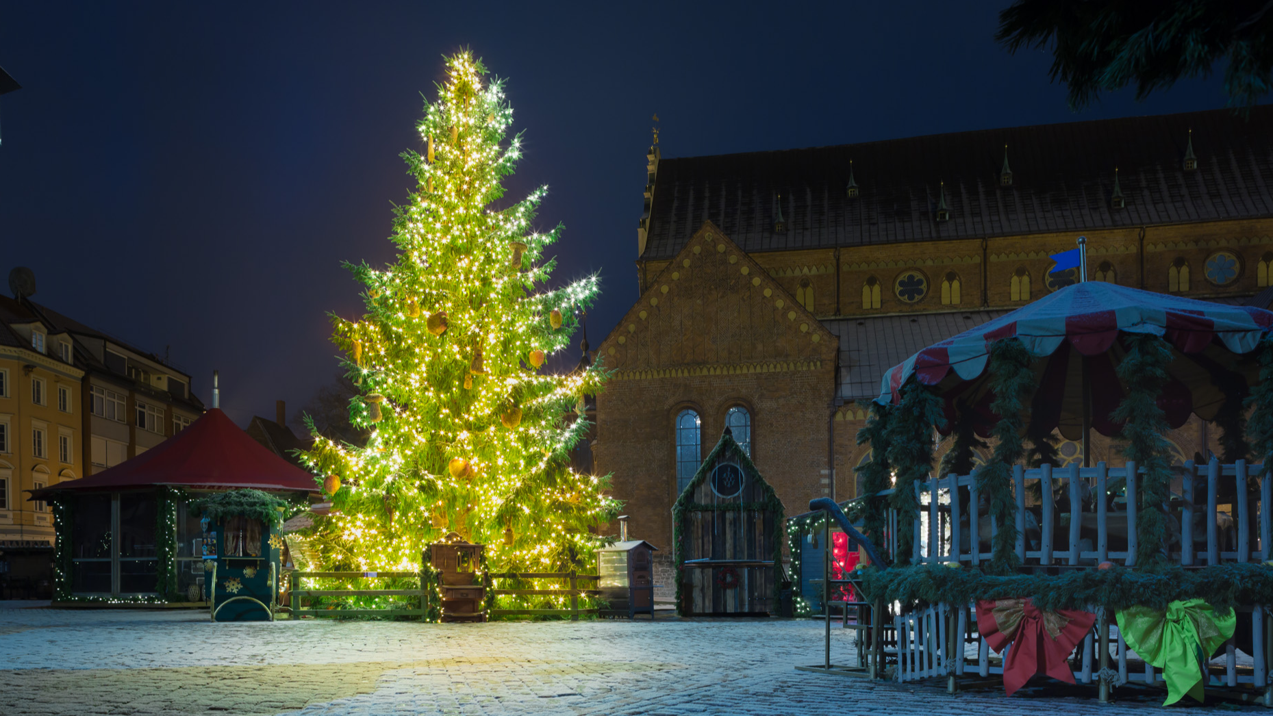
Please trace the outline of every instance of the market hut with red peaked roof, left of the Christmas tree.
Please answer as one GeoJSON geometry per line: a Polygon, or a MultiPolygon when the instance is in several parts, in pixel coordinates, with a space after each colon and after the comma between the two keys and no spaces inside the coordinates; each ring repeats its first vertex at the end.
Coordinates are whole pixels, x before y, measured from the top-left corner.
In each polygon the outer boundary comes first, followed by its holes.
{"type": "Polygon", "coordinates": [[[205,525],[187,504],[239,488],[297,499],[317,492],[313,474],[213,408],[113,468],[32,491],[32,500],[53,506],[55,603],[202,602],[205,525]]]}

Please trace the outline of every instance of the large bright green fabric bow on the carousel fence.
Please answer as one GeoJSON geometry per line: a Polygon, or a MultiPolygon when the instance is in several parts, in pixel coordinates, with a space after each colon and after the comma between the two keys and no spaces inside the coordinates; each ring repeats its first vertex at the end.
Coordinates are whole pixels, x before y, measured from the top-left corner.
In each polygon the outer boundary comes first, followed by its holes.
{"type": "Polygon", "coordinates": [[[1118,630],[1141,659],[1162,669],[1164,706],[1192,696],[1202,701],[1204,664],[1234,636],[1237,616],[1217,617],[1202,599],[1172,602],[1167,609],[1130,607],[1118,612],[1118,630]]]}

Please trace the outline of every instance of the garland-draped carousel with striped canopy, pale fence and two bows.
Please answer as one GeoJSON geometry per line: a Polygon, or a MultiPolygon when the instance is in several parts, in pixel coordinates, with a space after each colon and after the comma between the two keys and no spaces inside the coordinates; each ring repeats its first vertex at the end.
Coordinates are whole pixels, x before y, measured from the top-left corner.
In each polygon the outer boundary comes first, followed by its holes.
{"type": "Polygon", "coordinates": [[[827,636],[805,669],[1273,706],[1270,328],[1080,282],[892,368],[859,434],[862,496],[810,505],[875,552],[838,580],[862,595],[855,659],[834,665],[827,636]],[[1164,435],[1190,415],[1222,454],[1172,465],[1164,435]],[[1092,430],[1123,464],[1091,464],[1092,430]],[[1059,465],[1057,432],[1082,460],[1059,465]]]}

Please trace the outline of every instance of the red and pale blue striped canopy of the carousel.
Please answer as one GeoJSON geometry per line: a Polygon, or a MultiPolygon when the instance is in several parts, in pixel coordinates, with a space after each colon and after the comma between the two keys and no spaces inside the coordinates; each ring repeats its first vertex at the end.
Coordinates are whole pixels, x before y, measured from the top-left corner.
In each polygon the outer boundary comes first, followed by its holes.
{"type": "Polygon", "coordinates": [[[1270,327],[1273,312],[1259,308],[1099,281],[1074,284],[917,352],[885,373],[876,402],[897,403],[901,387],[914,375],[946,399],[948,418],[973,410],[978,432],[987,435],[995,421],[987,380],[990,346],[1016,337],[1039,356],[1034,365],[1039,388],[1027,408],[1032,427],[1059,427],[1069,440],[1081,437],[1086,373],[1091,425],[1115,435],[1122,426],[1110,413],[1125,394],[1115,374],[1125,355],[1119,336],[1152,333],[1172,346],[1171,382],[1158,404],[1179,427],[1190,413],[1213,420],[1226,402],[1246,397],[1259,379],[1249,354],[1270,327]]]}

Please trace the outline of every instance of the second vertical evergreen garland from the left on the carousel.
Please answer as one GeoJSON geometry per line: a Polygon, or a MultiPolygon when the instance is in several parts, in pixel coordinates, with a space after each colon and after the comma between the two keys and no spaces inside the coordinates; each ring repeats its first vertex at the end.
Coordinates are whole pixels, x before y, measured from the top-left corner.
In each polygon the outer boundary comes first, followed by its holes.
{"type": "Polygon", "coordinates": [[[901,525],[919,519],[915,485],[933,469],[933,427],[946,425],[942,408],[942,399],[911,376],[901,387],[901,403],[889,418],[889,463],[897,473],[890,500],[897,510],[897,553],[892,556],[897,565],[910,563],[914,552],[915,532],[901,525]]]}

